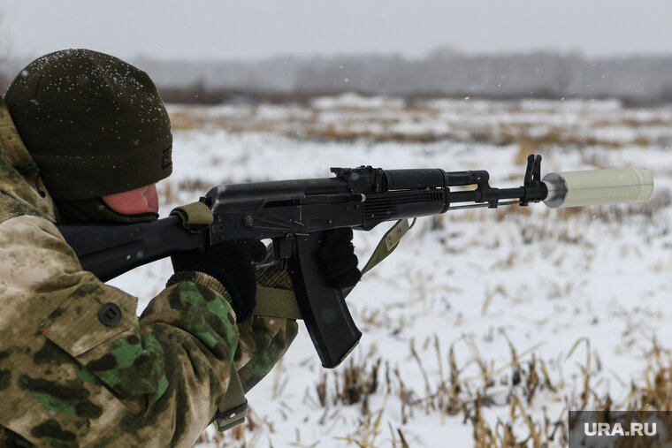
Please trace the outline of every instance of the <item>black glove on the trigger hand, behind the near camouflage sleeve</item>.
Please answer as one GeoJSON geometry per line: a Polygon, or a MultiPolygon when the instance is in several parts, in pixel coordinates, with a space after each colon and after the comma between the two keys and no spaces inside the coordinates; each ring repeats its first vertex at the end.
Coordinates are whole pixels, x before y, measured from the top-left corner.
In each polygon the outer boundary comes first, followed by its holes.
{"type": "Polygon", "coordinates": [[[205,250],[172,255],[175,272],[198,271],[215,277],[231,294],[236,322],[252,315],[256,305],[255,263],[261,262],[266,247],[256,239],[231,241],[205,250]]]}

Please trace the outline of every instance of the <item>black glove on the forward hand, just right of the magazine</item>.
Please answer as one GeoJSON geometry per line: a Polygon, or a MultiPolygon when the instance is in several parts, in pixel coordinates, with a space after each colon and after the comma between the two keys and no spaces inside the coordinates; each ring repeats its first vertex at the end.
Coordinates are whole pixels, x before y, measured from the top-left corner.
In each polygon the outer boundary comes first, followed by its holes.
{"type": "Polygon", "coordinates": [[[330,286],[343,289],[355,286],[362,278],[349,227],[326,231],[317,255],[330,286]]]}

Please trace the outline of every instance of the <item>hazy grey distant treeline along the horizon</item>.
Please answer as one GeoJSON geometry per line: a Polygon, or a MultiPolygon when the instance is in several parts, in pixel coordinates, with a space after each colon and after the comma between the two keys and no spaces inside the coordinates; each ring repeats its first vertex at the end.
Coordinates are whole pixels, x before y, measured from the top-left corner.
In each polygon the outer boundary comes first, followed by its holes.
{"type": "Polygon", "coordinates": [[[300,102],[342,92],[672,103],[672,55],[589,58],[550,51],[469,55],[439,50],[417,59],[374,55],[187,62],[141,57],[132,62],[149,72],[171,103],[300,102]]]}

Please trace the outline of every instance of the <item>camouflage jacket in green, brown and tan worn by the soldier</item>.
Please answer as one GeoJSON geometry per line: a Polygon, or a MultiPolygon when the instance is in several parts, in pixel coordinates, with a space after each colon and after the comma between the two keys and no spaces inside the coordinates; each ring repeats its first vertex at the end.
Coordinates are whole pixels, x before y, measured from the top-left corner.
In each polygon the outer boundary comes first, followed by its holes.
{"type": "MultiPolygon", "coordinates": [[[[0,97],[4,446],[191,446],[232,375],[248,391],[296,335],[286,319],[237,325],[224,287],[201,273],[169,282],[137,317],[137,299],[81,270],[54,223],[0,97]],[[120,320],[105,320],[110,308],[120,320]]],[[[281,270],[259,282],[291,288],[281,270]]]]}

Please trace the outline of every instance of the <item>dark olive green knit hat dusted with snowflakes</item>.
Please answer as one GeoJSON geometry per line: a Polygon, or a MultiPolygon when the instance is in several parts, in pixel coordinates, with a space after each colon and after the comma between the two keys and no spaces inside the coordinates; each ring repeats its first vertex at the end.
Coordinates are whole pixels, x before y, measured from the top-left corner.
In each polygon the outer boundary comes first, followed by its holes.
{"type": "Polygon", "coordinates": [[[4,100],[56,199],[121,193],[172,172],[171,122],[157,87],[116,57],[89,49],[39,57],[4,100]]]}

